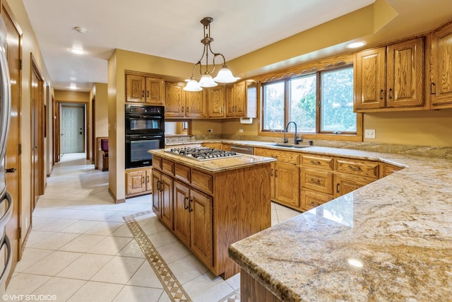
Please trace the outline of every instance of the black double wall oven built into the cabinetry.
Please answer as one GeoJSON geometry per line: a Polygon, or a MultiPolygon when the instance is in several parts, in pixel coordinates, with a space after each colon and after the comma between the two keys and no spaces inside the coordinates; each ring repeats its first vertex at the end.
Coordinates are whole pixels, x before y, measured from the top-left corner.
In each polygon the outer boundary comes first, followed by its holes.
{"type": "Polygon", "coordinates": [[[165,148],[165,107],[126,105],[126,169],[153,164],[150,149],[165,148]]]}

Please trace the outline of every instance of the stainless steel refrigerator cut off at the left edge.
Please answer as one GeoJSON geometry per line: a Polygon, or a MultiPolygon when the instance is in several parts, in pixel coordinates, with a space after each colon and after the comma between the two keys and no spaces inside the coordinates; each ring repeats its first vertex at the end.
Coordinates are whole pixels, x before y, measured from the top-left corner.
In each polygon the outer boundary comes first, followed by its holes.
{"type": "Polygon", "coordinates": [[[6,223],[11,218],[13,201],[6,190],[5,153],[11,114],[11,83],[6,59],[6,25],[0,16],[0,293],[11,269],[11,243],[6,236],[6,223]]]}

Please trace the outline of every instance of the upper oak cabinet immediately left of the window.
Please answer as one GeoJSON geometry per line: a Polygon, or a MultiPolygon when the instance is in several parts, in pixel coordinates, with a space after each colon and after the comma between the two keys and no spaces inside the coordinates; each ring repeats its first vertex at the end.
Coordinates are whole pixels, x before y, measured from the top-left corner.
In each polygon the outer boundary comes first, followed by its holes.
{"type": "Polygon", "coordinates": [[[240,81],[226,86],[226,117],[257,117],[257,84],[240,81]]]}

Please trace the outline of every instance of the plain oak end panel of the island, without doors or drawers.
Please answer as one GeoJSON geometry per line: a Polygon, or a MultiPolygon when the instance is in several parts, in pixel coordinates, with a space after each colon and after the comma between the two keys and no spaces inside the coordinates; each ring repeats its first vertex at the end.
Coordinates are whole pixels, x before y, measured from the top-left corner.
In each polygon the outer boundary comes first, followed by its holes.
{"type": "Polygon", "coordinates": [[[227,279],[240,272],[227,248],[271,226],[270,163],[216,173],[213,191],[213,266],[227,279]]]}

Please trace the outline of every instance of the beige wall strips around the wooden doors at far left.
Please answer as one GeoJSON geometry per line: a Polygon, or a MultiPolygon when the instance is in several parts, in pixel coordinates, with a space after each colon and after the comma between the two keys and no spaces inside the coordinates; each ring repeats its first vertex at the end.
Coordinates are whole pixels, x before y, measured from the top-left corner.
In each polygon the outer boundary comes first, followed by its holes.
{"type": "MultiPolygon", "coordinates": [[[[44,79],[44,86],[51,83],[49,73],[42,59],[39,45],[35,37],[35,32],[32,29],[28,14],[25,11],[23,2],[19,0],[3,0],[11,8],[14,18],[18,21],[20,28],[23,30],[22,35],[22,81],[21,81],[21,118],[20,118],[20,143],[22,144],[22,157],[20,167],[20,181],[21,185],[21,208],[20,208],[20,226],[22,227],[23,234],[26,234],[30,228],[31,220],[31,187],[32,183],[30,179],[31,170],[31,55],[35,59],[37,68],[40,71],[41,76],[44,79]]],[[[44,89],[44,100],[47,100],[47,90],[44,89]]],[[[51,129],[47,132],[48,135],[52,135],[51,129]]],[[[47,166],[47,158],[44,156],[44,167],[47,166]]],[[[44,171],[45,173],[45,171],[44,171]]],[[[26,237],[22,236],[22,240],[26,237]]]]}

